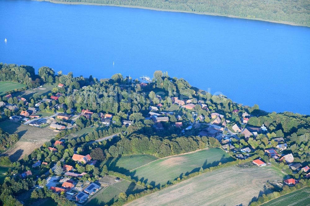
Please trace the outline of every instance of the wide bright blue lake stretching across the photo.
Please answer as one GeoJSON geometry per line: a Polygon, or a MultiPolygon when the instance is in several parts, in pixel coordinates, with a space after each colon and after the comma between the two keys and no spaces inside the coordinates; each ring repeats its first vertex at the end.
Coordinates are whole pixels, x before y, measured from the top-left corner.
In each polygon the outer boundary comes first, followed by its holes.
{"type": "Polygon", "coordinates": [[[310,114],[306,27],[115,6],[2,0],[0,40],[1,62],[97,78],[168,71],[171,77],[245,105],[310,114]]]}

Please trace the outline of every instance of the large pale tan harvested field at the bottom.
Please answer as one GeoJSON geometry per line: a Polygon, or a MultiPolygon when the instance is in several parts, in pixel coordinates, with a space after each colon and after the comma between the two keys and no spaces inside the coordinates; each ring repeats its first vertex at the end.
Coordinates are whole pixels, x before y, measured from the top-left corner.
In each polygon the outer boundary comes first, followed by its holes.
{"type": "Polygon", "coordinates": [[[264,182],[282,178],[283,174],[271,166],[249,169],[230,166],[198,175],[126,205],[248,205],[264,191],[264,182]]]}

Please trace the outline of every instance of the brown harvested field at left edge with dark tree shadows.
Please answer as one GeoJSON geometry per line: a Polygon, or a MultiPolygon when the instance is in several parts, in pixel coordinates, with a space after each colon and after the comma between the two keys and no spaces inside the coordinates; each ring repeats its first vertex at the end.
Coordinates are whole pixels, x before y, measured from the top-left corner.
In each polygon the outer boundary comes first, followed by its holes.
{"type": "Polygon", "coordinates": [[[11,121],[0,122],[0,127],[10,134],[18,134],[20,138],[13,147],[5,152],[10,156],[11,161],[17,161],[25,154],[30,154],[35,148],[41,147],[44,142],[51,140],[56,134],[48,127],[38,128],[11,121]]]}

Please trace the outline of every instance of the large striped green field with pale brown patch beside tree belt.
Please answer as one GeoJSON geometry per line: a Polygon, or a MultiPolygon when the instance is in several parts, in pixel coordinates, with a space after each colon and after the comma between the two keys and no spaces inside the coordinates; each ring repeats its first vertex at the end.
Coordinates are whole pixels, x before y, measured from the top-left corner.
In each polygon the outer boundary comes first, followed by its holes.
{"type": "Polygon", "coordinates": [[[162,158],[131,170],[126,175],[130,175],[133,179],[150,184],[153,187],[160,187],[178,177],[197,172],[201,167],[206,169],[216,166],[220,162],[226,163],[233,160],[224,150],[212,148],[162,158]]]}

